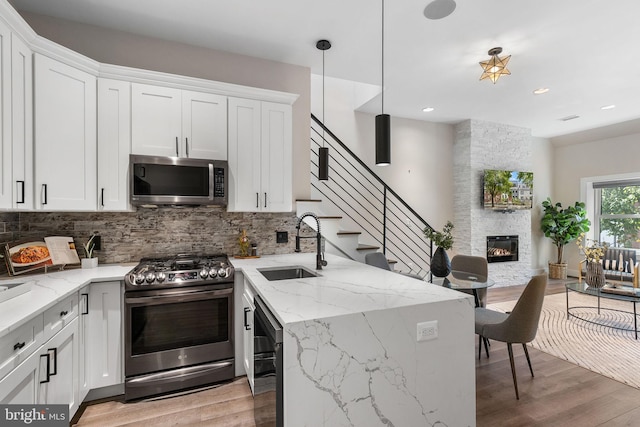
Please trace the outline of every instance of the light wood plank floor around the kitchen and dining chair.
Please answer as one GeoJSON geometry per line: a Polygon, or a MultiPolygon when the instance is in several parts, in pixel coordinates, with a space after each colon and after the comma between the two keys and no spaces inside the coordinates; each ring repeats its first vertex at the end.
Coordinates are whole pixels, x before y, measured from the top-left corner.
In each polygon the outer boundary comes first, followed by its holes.
{"type": "MultiPolygon", "coordinates": [[[[492,288],[488,302],[517,299],[522,289],[523,286],[492,288]]],[[[558,292],[564,292],[563,283],[549,283],[547,294],[558,292]]],[[[640,426],[640,390],[529,348],[536,375],[531,378],[522,347],[514,346],[520,391],[520,400],[516,400],[506,345],[492,342],[490,354],[488,359],[484,353],[481,360],[476,359],[478,427],[640,426]]],[[[255,427],[246,378],[151,402],[88,405],[77,425],[255,427]]]]}

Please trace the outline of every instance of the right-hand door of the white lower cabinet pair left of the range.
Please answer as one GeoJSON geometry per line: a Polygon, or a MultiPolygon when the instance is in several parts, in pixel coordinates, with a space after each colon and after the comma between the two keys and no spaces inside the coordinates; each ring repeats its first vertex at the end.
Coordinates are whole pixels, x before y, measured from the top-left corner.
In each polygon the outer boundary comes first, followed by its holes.
{"type": "MultiPolygon", "coordinates": [[[[78,318],[65,326],[42,347],[39,354],[50,355],[49,382],[39,384],[38,402],[68,404],[73,417],[78,400],[78,318]]],[[[42,374],[44,375],[44,374],[42,374]]]]}

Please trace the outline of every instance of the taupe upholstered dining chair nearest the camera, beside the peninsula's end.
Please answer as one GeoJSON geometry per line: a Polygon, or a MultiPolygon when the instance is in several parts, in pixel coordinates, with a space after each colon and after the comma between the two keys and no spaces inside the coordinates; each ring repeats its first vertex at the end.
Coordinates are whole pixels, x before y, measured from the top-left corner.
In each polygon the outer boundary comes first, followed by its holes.
{"type": "MultiPolygon", "coordinates": [[[[533,276],[526,288],[518,298],[515,307],[510,313],[501,313],[484,307],[476,308],[476,334],[479,336],[478,359],[482,354],[482,342],[485,339],[492,339],[507,343],[509,351],[509,362],[511,362],[511,375],[513,376],[513,386],[516,390],[516,399],[520,399],[518,394],[518,381],[516,380],[516,369],[513,362],[513,349],[511,344],[520,343],[527,356],[529,371],[533,377],[531,359],[527,351],[527,343],[533,341],[538,332],[538,322],[544,301],[544,292],[547,288],[547,276],[540,274],[533,276]]],[[[486,346],[487,357],[489,348],[486,346]]]]}

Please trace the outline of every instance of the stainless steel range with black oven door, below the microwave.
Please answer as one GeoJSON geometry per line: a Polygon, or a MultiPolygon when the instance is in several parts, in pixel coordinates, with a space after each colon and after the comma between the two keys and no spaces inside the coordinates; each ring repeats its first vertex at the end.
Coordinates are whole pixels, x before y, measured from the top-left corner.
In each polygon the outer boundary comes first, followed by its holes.
{"type": "Polygon", "coordinates": [[[226,255],[143,258],[125,276],[125,399],[231,379],[233,267],[226,255]]]}

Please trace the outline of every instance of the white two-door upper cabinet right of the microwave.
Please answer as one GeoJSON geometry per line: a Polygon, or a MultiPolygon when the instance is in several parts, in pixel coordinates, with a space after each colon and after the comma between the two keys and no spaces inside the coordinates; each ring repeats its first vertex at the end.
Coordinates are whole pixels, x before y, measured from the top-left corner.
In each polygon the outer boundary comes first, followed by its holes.
{"type": "Polygon", "coordinates": [[[292,210],[291,106],[229,98],[229,211],[292,210]]]}

